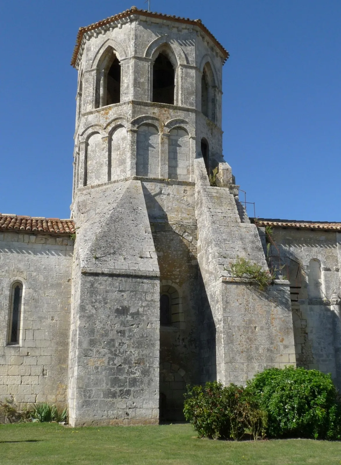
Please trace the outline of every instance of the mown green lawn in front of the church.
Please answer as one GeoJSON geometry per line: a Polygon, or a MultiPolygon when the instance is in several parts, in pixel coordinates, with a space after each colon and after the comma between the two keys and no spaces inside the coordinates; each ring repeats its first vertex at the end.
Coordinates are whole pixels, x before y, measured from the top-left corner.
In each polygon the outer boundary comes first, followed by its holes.
{"type": "Polygon", "coordinates": [[[198,439],[183,425],[66,428],[56,423],[0,425],[0,464],[201,465],[341,464],[341,442],[198,439]]]}

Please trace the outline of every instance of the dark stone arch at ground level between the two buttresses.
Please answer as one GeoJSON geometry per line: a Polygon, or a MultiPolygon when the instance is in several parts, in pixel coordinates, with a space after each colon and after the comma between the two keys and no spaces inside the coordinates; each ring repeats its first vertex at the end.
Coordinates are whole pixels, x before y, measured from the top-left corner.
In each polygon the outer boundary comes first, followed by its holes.
{"type": "Polygon", "coordinates": [[[160,364],[160,420],[184,420],[184,393],[189,379],[186,372],[176,364],[160,364]]]}

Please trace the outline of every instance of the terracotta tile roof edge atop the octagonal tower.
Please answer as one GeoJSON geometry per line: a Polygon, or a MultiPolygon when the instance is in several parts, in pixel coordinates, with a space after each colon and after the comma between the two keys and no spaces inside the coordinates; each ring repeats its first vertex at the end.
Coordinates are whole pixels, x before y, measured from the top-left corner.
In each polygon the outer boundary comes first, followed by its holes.
{"type": "Polygon", "coordinates": [[[71,66],[75,67],[76,60],[77,60],[77,55],[79,52],[79,47],[82,42],[83,34],[87,31],[92,31],[93,29],[97,29],[98,27],[105,26],[106,24],[110,24],[113,21],[120,20],[122,18],[126,18],[127,16],[131,16],[131,14],[139,14],[140,16],[149,16],[151,18],[158,18],[161,20],[171,20],[175,21],[178,23],[184,23],[184,24],[191,24],[193,26],[199,27],[205,34],[207,34],[210,39],[216,44],[216,46],[220,49],[220,51],[223,53],[223,56],[225,57],[225,60],[229,58],[229,52],[225,50],[225,48],[222,46],[218,40],[214,37],[212,33],[203,25],[201,20],[190,20],[190,18],[181,18],[180,16],[170,16],[168,14],[163,14],[163,13],[152,13],[147,10],[139,10],[137,7],[131,7],[129,10],[125,10],[122,13],[115,14],[114,16],[110,16],[109,18],[106,18],[105,20],[98,21],[97,23],[90,24],[89,26],[85,27],[80,27],[77,38],[76,38],[76,45],[72,53],[72,59],[71,59],[71,66]]]}

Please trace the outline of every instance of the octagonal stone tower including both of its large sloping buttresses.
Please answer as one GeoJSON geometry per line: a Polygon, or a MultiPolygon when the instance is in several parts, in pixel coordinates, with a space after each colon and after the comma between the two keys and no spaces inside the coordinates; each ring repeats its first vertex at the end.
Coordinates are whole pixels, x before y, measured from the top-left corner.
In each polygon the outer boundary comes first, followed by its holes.
{"type": "Polygon", "coordinates": [[[228,271],[267,264],[222,155],[227,58],[200,20],[136,7],[79,30],[72,425],[179,419],[186,383],[295,363],[289,282],[228,271]]]}

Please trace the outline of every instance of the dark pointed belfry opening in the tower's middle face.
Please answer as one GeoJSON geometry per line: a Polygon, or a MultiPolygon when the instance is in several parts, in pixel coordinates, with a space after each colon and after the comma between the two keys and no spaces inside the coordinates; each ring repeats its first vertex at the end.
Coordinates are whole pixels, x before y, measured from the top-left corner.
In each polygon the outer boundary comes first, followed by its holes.
{"type": "Polygon", "coordinates": [[[174,105],[174,76],[170,60],[160,53],[153,66],[153,102],[174,105]]]}

